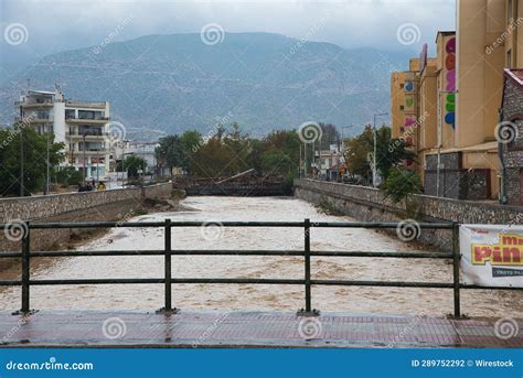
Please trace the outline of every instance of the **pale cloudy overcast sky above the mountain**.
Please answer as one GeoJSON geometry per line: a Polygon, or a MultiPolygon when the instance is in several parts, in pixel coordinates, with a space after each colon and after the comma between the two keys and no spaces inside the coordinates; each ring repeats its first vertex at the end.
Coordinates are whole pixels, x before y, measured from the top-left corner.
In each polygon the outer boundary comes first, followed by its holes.
{"type": "Polygon", "coordinates": [[[199,33],[209,23],[226,32],[274,32],[340,46],[419,51],[434,45],[438,30],[455,29],[455,0],[0,0],[4,34],[2,63],[92,46],[109,35],[122,41],[147,34],[199,33]],[[6,30],[20,23],[22,44],[6,43],[6,30]],[[402,24],[415,24],[416,42],[397,41],[402,24]],[[116,34],[116,35],[115,35],[116,34]],[[419,41],[418,41],[419,40],[419,41]]]}

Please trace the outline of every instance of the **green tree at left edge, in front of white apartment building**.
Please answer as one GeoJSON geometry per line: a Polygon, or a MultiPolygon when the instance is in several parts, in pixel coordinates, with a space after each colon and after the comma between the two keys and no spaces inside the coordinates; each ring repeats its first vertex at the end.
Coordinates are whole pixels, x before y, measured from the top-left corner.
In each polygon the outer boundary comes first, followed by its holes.
{"type": "Polygon", "coordinates": [[[0,194],[18,195],[21,184],[20,134],[23,136],[23,186],[24,194],[43,188],[47,165],[51,171],[65,159],[64,143],[54,142],[52,133],[39,134],[32,128],[15,125],[0,129],[0,194]]]}

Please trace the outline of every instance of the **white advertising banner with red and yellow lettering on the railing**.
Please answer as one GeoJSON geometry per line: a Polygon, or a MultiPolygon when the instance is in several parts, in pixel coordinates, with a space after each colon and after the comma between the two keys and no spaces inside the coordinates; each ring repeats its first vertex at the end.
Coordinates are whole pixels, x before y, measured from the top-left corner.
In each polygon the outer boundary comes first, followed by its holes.
{"type": "Polygon", "coordinates": [[[523,226],[461,225],[465,284],[523,288],[523,226]]]}

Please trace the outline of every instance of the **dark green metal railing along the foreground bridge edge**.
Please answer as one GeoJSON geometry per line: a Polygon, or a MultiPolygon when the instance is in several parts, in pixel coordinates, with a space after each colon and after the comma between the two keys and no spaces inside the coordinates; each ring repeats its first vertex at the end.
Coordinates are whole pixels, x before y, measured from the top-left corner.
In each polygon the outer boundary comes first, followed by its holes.
{"type": "MultiPolygon", "coordinates": [[[[394,229],[398,227],[396,223],[311,223],[305,222],[223,222],[215,224],[220,227],[289,227],[303,229],[302,250],[186,250],[172,249],[173,228],[180,227],[204,227],[209,223],[204,222],[143,222],[143,223],[120,223],[120,222],[96,222],[96,223],[30,223],[23,222],[19,229],[23,235],[21,238],[20,252],[3,252],[0,258],[21,258],[21,279],[0,280],[0,287],[20,285],[22,289],[22,305],[17,313],[30,313],[30,289],[34,285],[64,285],[64,284],[163,284],[164,305],[161,311],[173,313],[178,310],[172,307],[172,285],[177,283],[213,283],[213,284],[291,284],[303,285],[305,307],[298,314],[316,315],[319,311],[312,309],[312,285],[341,285],[341,287],[394,287],[394,288],[436,288],[452,289],[453,291],[453,315],[460,316],[460,289],[492,289],[492,290],[516,290],[519,288],[499,288],[483,285],[465,285],[459,281],[459,225],[455,223],[430,223],[419,224],[419,229],[448,229],[452,233],[452,250],[449,252],[426,252],[426,251],[312,251],[310,247],[311,230],[314,228],[367,228],[367,229],[394,229]],[[162,227],[164,229],[164,248],[161,250],[103,250],[103,251],[31,251],[31,230],[34,229],[71,229],[71,228],[111,228],[111,227],[162,227]],[[98,256],[163,256],[164,276],[163,278],[148,279],[31,279],[31,260],[42,257],[98,257],[98,256]],[[173,278],[172,257],[173,256],[295,256],[303,257],[302,279],[247,279],[247,278],[173,278]],[[452,259],[452,282],[414,282],[414,281],[357,281],[357,280],[324,280],[311,277],[311,258],[313,257],[373,257],[373,258],[405,258],[405,259],[452,259]]],[[[10,225],[0,225],[6,229],[10,225]]]]}

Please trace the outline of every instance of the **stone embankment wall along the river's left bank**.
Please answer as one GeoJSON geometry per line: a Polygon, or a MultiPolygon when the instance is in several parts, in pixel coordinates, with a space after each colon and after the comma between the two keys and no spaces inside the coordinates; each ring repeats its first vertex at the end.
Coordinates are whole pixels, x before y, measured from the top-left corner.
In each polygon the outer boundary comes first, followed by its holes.
{"type": "MultiPolygon", "coordinates": [[[[49,222],[89,222],[128,219],[140,213],[143,198],[170,198],[171,183],[100,192],[66,193],[46,196],[0,199],[0,224],[18,219],[49,222]]],[[[45,250],[68,242],[77,229],[33,230],[31,249],[45,250]]],[[[11,241],[0,230],[0,252],[20,250],[20,241],[11,241]]],[[[6,260],[6,259],[2,259],[6,260]]],[[[0,267],[2,261],[0,260],[0,267]]]]}

